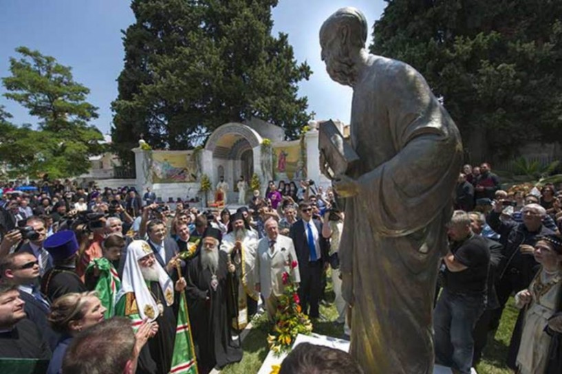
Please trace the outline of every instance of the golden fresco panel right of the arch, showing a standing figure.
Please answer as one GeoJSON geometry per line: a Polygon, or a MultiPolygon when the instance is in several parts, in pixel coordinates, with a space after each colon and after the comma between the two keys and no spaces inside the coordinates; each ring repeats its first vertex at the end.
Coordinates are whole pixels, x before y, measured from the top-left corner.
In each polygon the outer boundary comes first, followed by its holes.
{"type": "Polygon", "coordinates": [[[306,178],[306,159],[300,141],[283,142],[273,146],[273,174],[275,180],[299,181],[306,178]]]}

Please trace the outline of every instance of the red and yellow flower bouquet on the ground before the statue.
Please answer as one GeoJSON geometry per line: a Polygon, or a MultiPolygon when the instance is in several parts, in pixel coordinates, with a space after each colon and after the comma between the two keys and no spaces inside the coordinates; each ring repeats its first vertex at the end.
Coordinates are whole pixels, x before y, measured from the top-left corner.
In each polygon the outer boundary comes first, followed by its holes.
{"type": "Polygon", "coordinates": [[[298,285],[294,283],[292,277],[293,270],[297,266],[296,261],[289,261],[288,271],[283,273],[285,290],[283,295],[279,296],[273,331],[268,335],[270,350],[276,354],[288,351],[299,333],[303,335],[312,333],[312,322],[301,309],[301,300],[296,292],[298,285]]]}

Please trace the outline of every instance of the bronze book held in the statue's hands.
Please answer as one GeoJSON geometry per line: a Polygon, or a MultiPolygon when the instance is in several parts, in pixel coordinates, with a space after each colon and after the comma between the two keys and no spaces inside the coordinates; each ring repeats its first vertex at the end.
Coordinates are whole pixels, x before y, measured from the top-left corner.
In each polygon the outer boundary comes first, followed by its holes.
{"type": "Polygon", "coordinates": [[[336,175],[347,174],[359,161],[359,156],[332,120],[318,125],[318,150],[324,155],[328,165],[325,172],[329,179],[334,179],[336,175]]]}

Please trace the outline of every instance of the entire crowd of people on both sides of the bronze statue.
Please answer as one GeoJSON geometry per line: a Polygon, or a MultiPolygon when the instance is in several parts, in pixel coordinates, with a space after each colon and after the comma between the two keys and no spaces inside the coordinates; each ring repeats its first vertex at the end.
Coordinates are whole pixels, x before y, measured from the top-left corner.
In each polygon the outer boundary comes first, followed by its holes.
{"type": "MultiPolygon", "coordinates": [[[[149,189],[141,197],[67,182],[14,187],[2,187],[0,207],[3,359],[35,359],[47,373],[193,365],[208,373],[241,360],[240,333],[253,316],[275,318],[295,261],[305,314],[325,320],[319,305],[331,274],[334,323],[349,336],[338,273],[344,214],[331,189],[270,181],[265,197],[255,190],[237,210],[201,211],[182,201],[170,208],[149,189]],[[193,350],[178,363],[182,294],[193,350]],[[108,331],[119,349],[93,354],[88,347],[108,331]]],[[[560,373],[562,192],[551,184],[502,190],[489,164],[466,165],[454,205],[436,287],[435,362],[471,373],[515,296],[508,365],[560,373]]]]}

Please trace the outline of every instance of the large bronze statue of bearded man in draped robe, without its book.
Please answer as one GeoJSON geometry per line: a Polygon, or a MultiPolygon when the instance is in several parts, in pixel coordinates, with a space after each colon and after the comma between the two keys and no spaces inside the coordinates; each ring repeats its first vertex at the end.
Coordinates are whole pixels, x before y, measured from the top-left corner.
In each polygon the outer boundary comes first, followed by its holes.
{"type": "MultiPolygon", "coordinates": [[[[354,8],[338,10],[320,30],[329,76],[354,89],[351,145],[359,161],[333,181],[346,199],[339,255],[352,305],[350,353],[365,373],[431,374],[437,266],[462,144],[422,75],[369,54],[367,31],[354,8]]],[[[321,153],[325,174],[328,158],[321,153]]]]}

